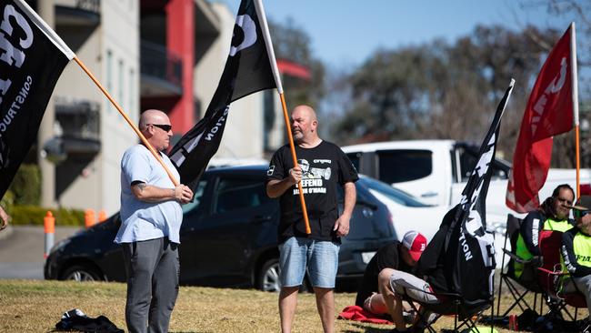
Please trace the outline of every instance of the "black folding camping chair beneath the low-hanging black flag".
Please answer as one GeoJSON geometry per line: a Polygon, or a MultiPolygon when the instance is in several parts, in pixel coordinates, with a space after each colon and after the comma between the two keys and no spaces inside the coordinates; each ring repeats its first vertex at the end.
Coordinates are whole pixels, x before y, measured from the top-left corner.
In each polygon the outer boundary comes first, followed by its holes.
{"type": "MultiPolygon", "coordinates": [[[[422,289],[417,289],[425,292],[422,289]]],[[[493,308],[494,297],[491,294],[489,299],[479,299],[468,302],[459,294],[454,293],[430,293],[440,299],[438,303],[421,303],[416,299],[403,297],[414,308],[417,316],[415,319],[414,328],[418,323],[423,323],[424,329],[431,333],[436,333],[436,329],[432,327],[436,320],[431,322],[429,318],[425,318],[425,313],[436,313],[439,316],[454,316],[454,331],[459,332],[460,329],[466,328],[472,330],[476,328],[476,322],[483,317],[483,313],[487,308],[493,308]],[[416,304],[420,305],[420,309],[416,308],[416,304]],[[476,317],[476,320],[474,319],[476,317]]],[[[439,317],[437,317],[439,318],[439,317]]],[[[491,322],[493,328],[493,322],[491,322]]]]}

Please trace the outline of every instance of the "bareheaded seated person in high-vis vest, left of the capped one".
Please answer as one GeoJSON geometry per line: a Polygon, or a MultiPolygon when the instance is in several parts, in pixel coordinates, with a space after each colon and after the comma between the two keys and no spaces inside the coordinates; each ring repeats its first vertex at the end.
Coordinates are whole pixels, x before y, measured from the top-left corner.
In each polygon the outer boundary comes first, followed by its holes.
{"type": "MultiPolygon", "coordinates": [[[[547,197],[537,210],[529,212],[519,229],[516,256],[524,260],[539,259],[541,256],[538,242],[540,231],[566,232],[574,227],[575,221],[568,218],[574,200],[573,188],[568,184],[562,184],[554,189],[552,197],[547,197]]],[[[515,262],[514,269],[516,278],[520,278],[524,265],[515,262]]]]}

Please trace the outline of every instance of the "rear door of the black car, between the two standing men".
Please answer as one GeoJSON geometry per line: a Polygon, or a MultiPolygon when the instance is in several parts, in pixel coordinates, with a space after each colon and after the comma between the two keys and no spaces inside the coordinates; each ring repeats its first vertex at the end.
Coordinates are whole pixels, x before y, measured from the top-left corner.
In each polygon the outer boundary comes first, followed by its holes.
{"type": "Polygon", "coordinates": [[[250,282],[249,263],[260,235],[271,227],[276,203],[266,196],[265,174],[219,173],[210,214],[199,224],[195,261],[200,283],[216,286],[250,282]]]}

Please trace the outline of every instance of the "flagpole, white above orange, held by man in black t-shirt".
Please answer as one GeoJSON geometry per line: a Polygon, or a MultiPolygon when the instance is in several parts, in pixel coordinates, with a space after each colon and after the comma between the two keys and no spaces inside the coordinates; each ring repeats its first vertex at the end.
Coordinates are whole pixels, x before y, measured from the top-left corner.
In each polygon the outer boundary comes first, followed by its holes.
{"type": "MultiPolygon", "coordinates": [[[[277,68],[277,62],[275,60],[275,51],[273,50],[273,43],[271,42],[271,34],[269,33],[269,26],[266,24],[265,6],[262,0],[255,0],[255,9],[258,14],[258,20],[263,31],[265,38],[266,52],[269,55],[269,62],[271,63],[271,71],[275,77],[275,85],[277,86],[277,92],[281,99],[281,106],[283,108],[283,116],[285,119],[285,128],[287,129],[287,138],[289,139],[289,148],[291,149],[291,156],[294,161],[294,166],[297,166],[297,156],[295,155],[295,144],[294,138],[291,133],[291,125],[289,116],[287,115],[287,106],[285,106],[285,96],[283,94],[283,86],[281,86],[281,77],[279,76],[279,69],[277,68]]],[[[308,220],[308,212],[306,209],[306,200],[304,199],[304,191],[302,189],[302,182],[297,182],[297,188],[299,189],[300,204],[302,206],[302,214],[304,214],[304,223],[306,226],[306,234],[311,234],[310,221],[308,220]]]]}

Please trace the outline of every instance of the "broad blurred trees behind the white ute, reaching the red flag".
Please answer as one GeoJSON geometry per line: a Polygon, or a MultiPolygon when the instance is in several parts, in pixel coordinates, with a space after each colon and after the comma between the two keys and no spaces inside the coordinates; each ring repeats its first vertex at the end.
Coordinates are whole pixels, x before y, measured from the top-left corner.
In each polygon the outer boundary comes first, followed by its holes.
{"type": "Polygon", "coordinates": [[[477,26],[453,44],[379,50],[348,80],[351,106],[337,139],[454,138],[479,142],[511,77],[516,88],[504,116],[499,151],[510,157],[542,60],[557,39],[553,30],[514,32],[477,26]]]}

